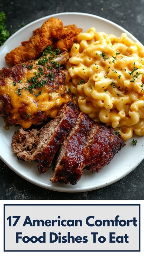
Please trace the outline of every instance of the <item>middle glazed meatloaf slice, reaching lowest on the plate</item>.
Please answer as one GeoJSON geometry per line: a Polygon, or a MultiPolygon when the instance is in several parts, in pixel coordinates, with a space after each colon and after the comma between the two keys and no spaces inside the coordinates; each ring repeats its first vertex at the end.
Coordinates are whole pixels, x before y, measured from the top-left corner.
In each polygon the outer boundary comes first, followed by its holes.
{"type": "Polygon", "coordinates": [[[81,178],[85,155],[84,146],[91,126],[92,121],[89,117],[80,112],[75,126],[60,147],[56,168],[50,181],[75,185],[81,178]]]}

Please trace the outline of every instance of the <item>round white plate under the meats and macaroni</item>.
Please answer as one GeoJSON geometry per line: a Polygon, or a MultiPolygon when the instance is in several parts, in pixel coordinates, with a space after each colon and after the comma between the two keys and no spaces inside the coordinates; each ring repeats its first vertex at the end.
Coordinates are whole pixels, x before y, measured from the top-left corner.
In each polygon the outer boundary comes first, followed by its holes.
{"type": "MultiPolygon", "coordinates": [[[[43,22],[50,17],[61,19],[64,25],[76,24],[76,26],[82,28],[83,31],[86,31],[90,27],[95,27],[97,31],[104,31],[108,34],[115,34],[116,36],[120,36],[122,32],[125,32],[132,40],[138,41],[122,27],[101,17],[78,12],[59,13],[31,22],[12,35],[0,48],[0,68],[7,67],[4,59],[5,54],[19,46],[22,41],[28,40],[29,37],[32,36],[32,31],[40,27],[43,22]]],[[[103,188],[123,178],[144,158],[144,137],[135,135],[134,138],[137,139],[136,146],[132,146],[132,139],[128,140],[126,146],[115,155],[111,163],[105,166],[100,173],[92,173],[91,171],[84,170],[80,181],[74,186],[70,184],[51,183],[49,179],[52,176],[52,170],[49,169],[46,173],[39,174],[35,163],[18,161],[16,156],[12,153],[10,145],[12,135],[19,127],[15,128],[14,126],[10,126],[9,130],[5,130],[3,127],[5,123],[1,117],[0,124],[0,157],[2,161],[22,178],[25,178],[35,185],[54,191],[85,192],[103,188]]]]}

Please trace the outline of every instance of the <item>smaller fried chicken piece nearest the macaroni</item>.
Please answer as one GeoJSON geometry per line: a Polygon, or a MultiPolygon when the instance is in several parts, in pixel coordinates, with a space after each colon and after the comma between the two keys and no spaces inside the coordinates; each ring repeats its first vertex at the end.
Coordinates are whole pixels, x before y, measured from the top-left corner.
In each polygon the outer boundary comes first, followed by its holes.
{"type": "Polygon", "coordinates": [[[53,48],[59,48],[62,51],[67,51],[72,47],[73,43],[77,40],[77,35],[82,31],[74,24],[63,27],[63,36],[60,40],[54,40],[53,48]]]}

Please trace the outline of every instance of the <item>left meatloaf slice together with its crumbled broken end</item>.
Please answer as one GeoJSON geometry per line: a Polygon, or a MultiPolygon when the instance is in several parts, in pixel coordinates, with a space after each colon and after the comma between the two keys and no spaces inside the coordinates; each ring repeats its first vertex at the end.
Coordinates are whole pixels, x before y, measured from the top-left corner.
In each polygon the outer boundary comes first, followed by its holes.
{"type": "Polygon", "coordinates": [[[12,138],[12,148],[17,158],[23,161],[38,162],[39,172],[45,172],[51,165],[57,149],[68,135],[77,119],[79,109],[68,102],[57,117],[40,130],[24,131],[20,128],[12,138]]]}

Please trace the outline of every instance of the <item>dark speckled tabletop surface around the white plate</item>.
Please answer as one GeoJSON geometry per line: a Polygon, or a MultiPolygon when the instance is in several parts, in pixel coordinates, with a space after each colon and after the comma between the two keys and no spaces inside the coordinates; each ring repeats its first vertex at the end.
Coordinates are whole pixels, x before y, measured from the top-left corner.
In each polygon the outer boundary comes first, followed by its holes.
{"type": "MultiPolygon", "coordinates": [[[[26,25],[53,13],[86,12],[117,23],[144,44],[143,10],[144,0],[0,1],[0,11],[6,14],[10,33],[19,29],[22,23],[26,25]]],[[[0,199],[144,199],[144,161],[125,178],[103,189],[84,193],[60,193],[25,181],[0,160],[0,183],[0,199]]]]}

